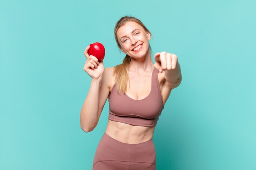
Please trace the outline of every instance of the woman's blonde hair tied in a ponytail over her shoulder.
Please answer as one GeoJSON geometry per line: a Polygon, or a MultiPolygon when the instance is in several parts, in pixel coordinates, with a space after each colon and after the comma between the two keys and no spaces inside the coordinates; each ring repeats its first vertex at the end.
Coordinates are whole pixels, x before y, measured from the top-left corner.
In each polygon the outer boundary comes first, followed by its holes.
{"type": "MultiPolygon", "coordinates": [[[[128,22],[128,21],[133,21],[133,22],[136,22],[136,23],[140,24],[146,32],[150,33],[150,31],[146,28],[146,26],[139,19],[137,19],[135,17],[132,17],[132,16],[124,16],[124,17],[120,18],[117,21],[117,23],[115,25],[115,29],[114,29],[115,40],[117,42],[117,46],[119,48],[119,51],[121,50],[121,45],[119,44],[119,41],[118,41],[118,38],[117,38],[117,30],[121,26],[126,24],[126,22],[128,22]]],[[[150,35],[151,35],[151,33],[150,33],[150,35]]],[[[150,45],[149,45],[149,50],[150,50],[150,56],[151,56],[152,49],[151,49],[150,45]]],[[[128,69],[129,69],[130,61],[131,61],[130,56],[128,54],[126,54],[126,56],[124,57],[123,63],[119,64],[117,66],[114,66],[113,75],[115,77],[115,83],[116,83],[116,86],[117,86],[118,94],[120,94],[121,90],[123,91],[124,94],[126,94],[127,82],[128,81],[130,82],[130,79],[129,79],[129,76],[128,76],[128,69]]]]}

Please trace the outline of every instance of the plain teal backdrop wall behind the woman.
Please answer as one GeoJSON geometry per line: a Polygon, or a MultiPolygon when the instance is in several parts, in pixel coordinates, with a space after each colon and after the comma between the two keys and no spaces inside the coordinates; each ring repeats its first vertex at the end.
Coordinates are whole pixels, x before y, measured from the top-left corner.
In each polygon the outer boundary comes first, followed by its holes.
{"type": "Polygon", "coordinates": [[[255,170],[255,9],[253,0],[1,0],[0,169],[91,169],[108,100],[83,132],[83,51],[101,42],[105,68],[120,64],[114,27],[132,15],[183,75],[155,128],[157,170],[255,170]]]}

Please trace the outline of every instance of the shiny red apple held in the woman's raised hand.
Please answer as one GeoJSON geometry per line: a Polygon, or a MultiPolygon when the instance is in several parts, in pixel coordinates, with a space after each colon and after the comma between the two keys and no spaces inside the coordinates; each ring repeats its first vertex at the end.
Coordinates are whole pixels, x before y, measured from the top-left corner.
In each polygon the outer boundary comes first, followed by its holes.
{"type": "Polygon", "coordinates": [[[105,56],[105,48],[101,43],[94,42],[93,44],[90,44],[90,49],[88,50],[88,54],[93,55],[99,61],[102,61],[105,56]]]}

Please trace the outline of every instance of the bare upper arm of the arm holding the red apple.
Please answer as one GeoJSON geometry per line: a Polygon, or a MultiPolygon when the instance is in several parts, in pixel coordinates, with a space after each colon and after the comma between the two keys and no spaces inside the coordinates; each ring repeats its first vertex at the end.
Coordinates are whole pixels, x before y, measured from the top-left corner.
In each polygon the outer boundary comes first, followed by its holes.
{"type": "Polygon", "coordinates": [[[103,76],[102,76],[102,82],[99,90],[99,108],[98,108],[98,121],[99,117],[101,116],[101,112],[104,108],[104,105],[106,104],[106,101],[108,99],[108,95],[110,93],[110,86],[112,82],[112,68],[108,67],[105,68],[103,76]]]}

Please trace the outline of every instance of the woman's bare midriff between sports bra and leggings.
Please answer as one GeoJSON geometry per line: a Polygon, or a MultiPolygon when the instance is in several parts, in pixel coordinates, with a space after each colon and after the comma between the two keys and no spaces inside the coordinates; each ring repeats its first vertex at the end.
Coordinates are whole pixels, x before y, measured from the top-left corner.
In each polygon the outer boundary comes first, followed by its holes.
{"type": "Polygon", "coordinates": [[[126,144],[140,144],[153,138],[155,126],[135,126],[108,119],[106,134],[126,144]]]}

